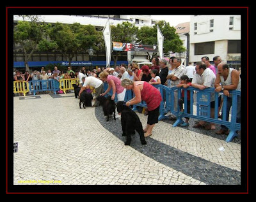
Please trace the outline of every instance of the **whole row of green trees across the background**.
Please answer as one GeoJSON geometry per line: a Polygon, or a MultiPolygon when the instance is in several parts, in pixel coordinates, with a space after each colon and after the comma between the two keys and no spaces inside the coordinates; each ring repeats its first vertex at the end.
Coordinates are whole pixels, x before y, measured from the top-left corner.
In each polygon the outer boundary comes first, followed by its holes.
{"type": "MultiPolygon", "coordinates": [[[[29,61],[35,50],[56,51],[65,55],[71,66],[72,59],[90,47],[95,52],[105,50],[102,31],[97,31],[93,25],[38,23],[38,18],[31,16],[31,22],[19,21],[14,29],[14,43],[19,43],[25,54],[25,63],[29,61]]],[[[157,25],[164,36],[164,54],[184,52],[179,35],[168,22],[160,21],[152,27],[143,26],[140,29],[130,22],[111,25],[112,41],[122,43],[137,43],[141,45],[157,45],[157,25]]],[[[118,61],[120,52],[112,52],[112,57],[118,61]]],[[[156,55],[153,53],[152,56],[156,55]]],[[[148,53],[148,56],[150,54],[148,53]]],[[[151,59],[150,59],[151,60],[151,59]]]]}

